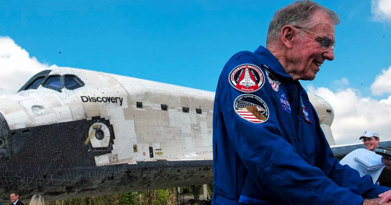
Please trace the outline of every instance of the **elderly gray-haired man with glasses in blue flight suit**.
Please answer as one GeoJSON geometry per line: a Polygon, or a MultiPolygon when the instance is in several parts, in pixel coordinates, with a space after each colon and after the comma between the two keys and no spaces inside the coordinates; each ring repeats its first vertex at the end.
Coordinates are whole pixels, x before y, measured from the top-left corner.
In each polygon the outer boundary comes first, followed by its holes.
{"type": "Polygon", "coordinates": [[[213,108],[212,204],[389,201],[389,187],[339,164],[299,82],[313,80],[334,59],[338,23],[330,9],[294,2],[274,14],[266,48],[236,53],[226,63],[213,108]]]}

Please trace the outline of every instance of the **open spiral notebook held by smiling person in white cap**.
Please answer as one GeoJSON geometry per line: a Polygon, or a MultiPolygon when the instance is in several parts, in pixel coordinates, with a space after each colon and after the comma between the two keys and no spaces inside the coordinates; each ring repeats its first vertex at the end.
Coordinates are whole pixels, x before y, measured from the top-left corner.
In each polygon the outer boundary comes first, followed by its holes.
{"type": "Polygon", "coordinates": [[[375,152],[359,152],[359,154],[360,155],[356,155],[353,160],[368,170],[375,170],[382,166],[386,166],[382,162],[382,156],[375,152]]]}

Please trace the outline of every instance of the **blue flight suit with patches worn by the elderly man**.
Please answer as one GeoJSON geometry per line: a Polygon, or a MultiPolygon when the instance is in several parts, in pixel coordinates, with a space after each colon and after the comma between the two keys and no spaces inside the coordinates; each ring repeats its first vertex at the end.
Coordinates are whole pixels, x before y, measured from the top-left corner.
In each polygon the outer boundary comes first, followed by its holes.
{"type": "Polygon", "coordinates": [[[299,81],[263,46],[224,66],[213,107],[212,204],[361,205],[374,185],[334,157],[299,81]]]}

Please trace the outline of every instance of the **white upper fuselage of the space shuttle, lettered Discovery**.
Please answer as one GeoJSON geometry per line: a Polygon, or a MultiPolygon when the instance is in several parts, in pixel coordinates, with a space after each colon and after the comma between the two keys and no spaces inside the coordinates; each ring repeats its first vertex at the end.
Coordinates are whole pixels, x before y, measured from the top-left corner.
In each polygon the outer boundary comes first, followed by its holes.
{"type": "MultiPolygon", "coordinates": [[[[115,139],[111,153],[95,157],[97,166],[149,159],[212,159],[213,92],[75,68],[57,68],[47,76],[64,75],[79,78],[83,86],[70,90],[64,84],[56,90],[40,85],[0,99],[0,112],[9,129],[98,116],[110,120],[115,139]]],[[[322,128],[328,129],[332,107],[318,96],[309,97],[324,123],[322,128]]],[[[101,124],[102,132],[94,131],[95,124],[88,127],[88,142],[84,142],[92,148],[109,146],[108,125],[101,124]],[[104,136],[97,138],[97,134],[104,136]]],[[[331,132],[327,134],[334,145],[331,132]]]]}

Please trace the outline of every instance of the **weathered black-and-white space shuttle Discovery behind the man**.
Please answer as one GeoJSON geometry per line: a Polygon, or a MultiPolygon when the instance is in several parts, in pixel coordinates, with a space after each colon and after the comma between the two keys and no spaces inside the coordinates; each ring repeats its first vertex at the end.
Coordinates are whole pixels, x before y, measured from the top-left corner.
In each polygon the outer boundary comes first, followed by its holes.
{"type": "MultiPolygon", "coordinates": [[[[14,190],[50,201],[212,184],[214,95],[77,68],[37,73],[0,99],[0,203],[14,190]]],[[[336,146],[332,106],[308,95],[335,156],[363,147],[336,146]]]]}

